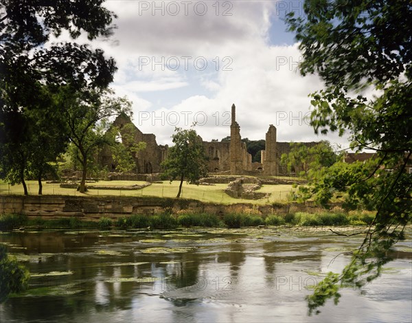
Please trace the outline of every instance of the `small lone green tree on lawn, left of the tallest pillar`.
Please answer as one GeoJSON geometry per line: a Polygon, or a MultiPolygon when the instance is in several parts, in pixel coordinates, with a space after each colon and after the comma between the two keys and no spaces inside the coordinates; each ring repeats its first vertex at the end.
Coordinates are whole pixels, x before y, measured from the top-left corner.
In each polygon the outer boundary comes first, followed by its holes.
{"type": "Polygon", "coordinates": [[[163,177],[174,181],[180,180],[177,198],[181,196],[183,181],[197,183],[207,173],[206,155],[201,137],[194,129],[175,129],[168,158],[161,164],[163,177]]]}

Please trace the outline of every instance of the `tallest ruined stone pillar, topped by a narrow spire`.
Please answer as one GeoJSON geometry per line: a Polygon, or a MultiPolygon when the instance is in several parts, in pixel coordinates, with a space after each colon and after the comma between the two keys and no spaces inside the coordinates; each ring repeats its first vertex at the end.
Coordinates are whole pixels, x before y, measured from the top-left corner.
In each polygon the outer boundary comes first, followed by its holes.
{"type": "Polygon", "coordinates": [[[236,107],[231,107],[230,125],[230,173],[231,175],[242,174],[242,141],[240,138],[240,126],[236,122],[236,107]]]}

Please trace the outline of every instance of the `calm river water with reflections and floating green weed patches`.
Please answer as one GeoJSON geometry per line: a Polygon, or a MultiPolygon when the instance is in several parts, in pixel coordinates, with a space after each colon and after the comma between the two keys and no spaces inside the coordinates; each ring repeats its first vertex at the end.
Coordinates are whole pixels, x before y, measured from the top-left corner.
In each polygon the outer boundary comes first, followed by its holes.
{"type": "Polygon", "coordinates": [[[12,232],[31,273],[0,322],[411,322],[411,232],[381,278],[308,317],[308,286],[361,242],[326,230],[12,232]]]}

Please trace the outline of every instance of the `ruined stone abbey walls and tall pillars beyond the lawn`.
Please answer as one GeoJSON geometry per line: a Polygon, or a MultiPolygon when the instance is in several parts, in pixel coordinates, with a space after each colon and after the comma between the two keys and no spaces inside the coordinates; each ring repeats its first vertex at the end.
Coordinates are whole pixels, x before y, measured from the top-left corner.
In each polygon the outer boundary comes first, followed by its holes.
{"type": "MultiPolygon", "coordinates": [[[[120,134],[126,124],[133,124],[127,115],[119,115],[114,126],[117,126],[120,134]]],[[[134,142],[146,142],[146,149],[140,151],[135,156],[136,167],[133,172],[137,174],[153,174],[161,172],[161,162],[168,155],[168,145],[158,145],[156,136],[152,133],[142,133],[133,124],[134,142]]],[[[129,128],[130,129],[130,128],[129,128]]],[[[231,126],[230,126],[230,142],[203,142],[207,161],[208,172],[227,173],[230,175],[286,175],[286,167],[280,163],[282,154],[290,152],[290,144],[288,142],[276,141],[276,128],[271,124],[266,133],[266,147],[262,151],[262,164],[253,163],[252,156],[247,152],[247,146],[242,142],[240,137],[240,126],[236,122],[236,106],[231,106],[231,126]],[[262,168],[262,169],[261,169],[262,168]]],[[[308,146],[313,146],[317,142],[304,142],[308,146]]],[[[113,161],[110,147],[103,149],[100,153],[100,163],[103,166],[108,166],[109,171],[115,171],[116,165],[113,161]]],[[[299,170],[295,170],[299,172],[299,170]]]]}

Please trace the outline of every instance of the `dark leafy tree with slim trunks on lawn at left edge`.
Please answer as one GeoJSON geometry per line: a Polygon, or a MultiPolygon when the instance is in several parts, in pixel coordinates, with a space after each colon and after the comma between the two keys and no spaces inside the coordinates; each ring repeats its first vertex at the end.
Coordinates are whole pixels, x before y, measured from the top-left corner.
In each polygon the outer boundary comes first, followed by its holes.
{"type": "Polygon", "coordinates": [[[0,116],[0,178],[22,183],[27,195],[25,177],[34,177],[38,194],[42,194],[41,179],[56,174],[56,157],[67,145],[65,124],[52,94],[47,87],[38,86],[30,109],[2,110],[0,116]]]}

